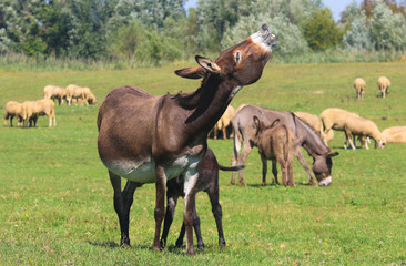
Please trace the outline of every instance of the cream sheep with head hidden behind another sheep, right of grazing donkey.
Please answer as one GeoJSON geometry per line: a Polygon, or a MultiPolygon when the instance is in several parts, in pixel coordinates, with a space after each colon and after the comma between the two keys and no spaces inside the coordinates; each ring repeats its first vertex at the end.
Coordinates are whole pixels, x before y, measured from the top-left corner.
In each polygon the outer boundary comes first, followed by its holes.
{"type": "MultiPolygon", "coordinates": [[[[327,134],[332,130],[344,131],[344,125],[347,119],[359,117],[358,114],[348,112],[343,109],[329,108],[324,110],[319,115],[319,132],[321,137],[327,145],[327,134]]],[[[346,146],[345,146],[346,147],[346,146]]]]}

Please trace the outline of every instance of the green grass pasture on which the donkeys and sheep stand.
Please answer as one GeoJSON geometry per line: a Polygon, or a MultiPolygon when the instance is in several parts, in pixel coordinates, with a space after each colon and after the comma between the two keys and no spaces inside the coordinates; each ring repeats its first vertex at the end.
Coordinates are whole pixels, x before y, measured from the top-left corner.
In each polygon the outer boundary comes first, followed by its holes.
{"type": "MultiPolygon", "coordinates": [[[[42,98],[44,85],[89,86],[99,103],[120,85],[136,85],[159,95],[191,91],[199,81],[182,80],[173,70],[84,72],[0,71],[0,109],[10,100],[42,98]]],[[[233,100],[278,110],[319,114],[336,106],[373,120],[380,130],[406,125],[406,64],[273,64],[262,79],[233,100]],[[376,81],[392,81],[387,99],[377,98],[376,81]],[[356,101],[352,83],[363,76],[365,99],[356,101]]],[[[296,187],[261,186],[255,149],[246,161],[247,187],[220,174],[220,198],[227,246],[217,233],[207,196],[197,194],[205,253],[186,256],[174,243],[182,224],[183,201],[168,238],[168,248],[152,249],[154,185],[134,195],[132,246],[120,248],[113,191],[97,151],[98,105],[57,106],[58,125],[48,129],[0,126],[0,265],[405,265],[406,144],[384,150],[346,151],[343,133],[329,146],[333,183],[312,187],[294,160],[296,187]]],[[[141,126],[141,125],[140,125],[141,126]]],[[[233,141],[209,140],[223,165],[230,165],[233,141]]],[[[373,146],[373,145],[372,145],[373,146]]],[[[308,156],[305,155],[307,158],[308,156]]],[[[311,160],[308,158],[311,163],[311,160]]],[[[272,173],[268,171],[268,184],[272,173]]],[[[124,183],[124,182],[123,182],[124,183]]],[[[195,242],[195,241],[194,241],[195,242]]],[[[196,242],[195,242],[196,243],[196,242]]]]}

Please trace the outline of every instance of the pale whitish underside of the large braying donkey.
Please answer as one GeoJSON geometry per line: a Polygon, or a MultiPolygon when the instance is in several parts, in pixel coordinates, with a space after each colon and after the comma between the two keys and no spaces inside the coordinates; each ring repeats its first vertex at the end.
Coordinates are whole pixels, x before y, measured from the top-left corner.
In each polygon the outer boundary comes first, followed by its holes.
{"type": "MultiPolygon", "coordinates": [[[[183,155],[164,165],[166,178],[171,180],[186,170],[197,171],[199,156],[183,155]]],[[[109,171],[114,174],[136,183],[155,183],[155,161],[153,158],[144,162],[129,160],[118,160],[114,162],[103,162],[109,171]]]]}

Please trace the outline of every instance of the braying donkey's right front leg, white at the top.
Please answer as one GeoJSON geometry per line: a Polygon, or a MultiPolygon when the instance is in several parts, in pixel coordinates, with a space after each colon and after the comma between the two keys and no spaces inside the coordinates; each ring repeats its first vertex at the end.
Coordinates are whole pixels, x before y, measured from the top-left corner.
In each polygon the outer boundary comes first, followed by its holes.
{"type": "Polygon", "coordinates": [[[186,226],[186,254],[194,255],[194,247],[193,247],[193,212],[195,209],[195,185],[199,178],[199,165],[193,165],[184,177],[184,214],[183,214],[183,222],[186,226]]]}

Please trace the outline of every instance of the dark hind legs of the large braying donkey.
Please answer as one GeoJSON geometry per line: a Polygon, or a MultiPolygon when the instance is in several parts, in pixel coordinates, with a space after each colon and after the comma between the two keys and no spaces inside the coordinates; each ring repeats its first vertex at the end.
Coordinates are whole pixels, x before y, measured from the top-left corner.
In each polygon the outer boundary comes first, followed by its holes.
{"type": "Polygon", "coordinates": [[[135,188],[141,184],[128,181],[123,192],[121,192],[121,177],[109,171],[110,181],[114,190],[114,209],[119,216],[121,229],[121,246],[130,246],[129,223],[130,208],[133,202],[135,188]]]}

